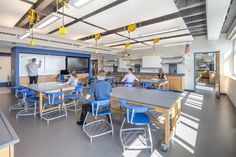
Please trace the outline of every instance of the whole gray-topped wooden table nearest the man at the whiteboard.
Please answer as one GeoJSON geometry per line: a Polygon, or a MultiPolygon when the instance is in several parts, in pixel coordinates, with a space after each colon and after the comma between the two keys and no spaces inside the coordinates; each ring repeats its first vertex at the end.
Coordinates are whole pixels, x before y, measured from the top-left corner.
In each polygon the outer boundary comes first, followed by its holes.
{"type": "MultiPolygon", "coordinates": [[[[41,118],[42,118],[42,113],[43,113],[43,95],[45,92],[71,91],[75,88],[72,85],[65,85],[65,84],[62,84],[61,82],[46,82],[46,83],[38,83],[38,84],[29,84],[29,85],[24,85],[24,86],[26,88],[34,90],[38,93],[38,95],[39,95],[39,113],[40,113],[41,118]]],[[[70,105],[70,103],[65,104],[65,105],[70,105]]],[[[53,110],[58,107],[52,107],[52,108],[46,109],[44,111],[47,112],[49,110],[53,110]]]]}

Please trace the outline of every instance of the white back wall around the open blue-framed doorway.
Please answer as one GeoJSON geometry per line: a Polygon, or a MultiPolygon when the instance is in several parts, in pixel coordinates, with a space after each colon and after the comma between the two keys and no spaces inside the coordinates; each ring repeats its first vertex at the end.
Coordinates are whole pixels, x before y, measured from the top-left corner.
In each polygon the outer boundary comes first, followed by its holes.
{"type": "MultiPolygon", "coordinates": [[[[158,46],[157,52],[163,57],[173,57],[184,55],[184,45],[163,47],[158,46]]],[[[231,66],[230,54],[232,52],[232,42],[226,40],[226,34],[222,34],[219,40],[209,41],[206,37],[195,38],[190,45],[190,53],[185,56],[185,64],[179,65],[179,73],[185,73],[185,89],[194,89],[194,53],[195,52],[214,52],[220,51],[221,56],[221,76],[224,76],[229,71],[231,66]]],[[[152,55],[152,49],[136,50],[131,52],[131,58],[138,58],[144,55],[152,55]]],[[[226,87],[221,83],[221,92],[226,93],[226,87]]]]}

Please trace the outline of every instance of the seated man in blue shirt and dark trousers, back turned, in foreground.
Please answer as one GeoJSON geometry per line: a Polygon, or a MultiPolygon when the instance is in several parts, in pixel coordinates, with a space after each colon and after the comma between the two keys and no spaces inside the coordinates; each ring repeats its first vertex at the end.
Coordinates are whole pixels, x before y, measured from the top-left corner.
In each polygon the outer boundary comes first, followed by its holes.
{"type": "MultiPolygon", "coordinates": [[[[110,99],[110,93],[112,91],[111,84],[105,81],[106,73],[104,70],[98,72],[98,81],[92,84],[91,88],[88,91],[88,94],[85,96],[86,100],[90,99],[91,96],[94,96],[95,100],[107,100],[110,99]]],[[[80,121],[77,122],[78,125],[83,125],[87,111],[91,111],[92,106],[90,103],[84,104],[82,106],[82,112],[80,116],[80,121]]],[[[108,121],[110,122],[109,116],[107,116],[108,121]]]]}

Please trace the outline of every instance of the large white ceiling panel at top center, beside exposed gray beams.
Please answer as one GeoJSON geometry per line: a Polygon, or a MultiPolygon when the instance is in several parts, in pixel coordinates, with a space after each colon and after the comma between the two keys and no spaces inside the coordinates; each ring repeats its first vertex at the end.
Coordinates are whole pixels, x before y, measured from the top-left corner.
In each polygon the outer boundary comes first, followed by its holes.
{"type": "Polygon", "coordinates": [[[85,21],[106,29],[114,29],[177,11],[173,0],[165,0],[164,3],[163,0],[129,0],[85,21]]]}

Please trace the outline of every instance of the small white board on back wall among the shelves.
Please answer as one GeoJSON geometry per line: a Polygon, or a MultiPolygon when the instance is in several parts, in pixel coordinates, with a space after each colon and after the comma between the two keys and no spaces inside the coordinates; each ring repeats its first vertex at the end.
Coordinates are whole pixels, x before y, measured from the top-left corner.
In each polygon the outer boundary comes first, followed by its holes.
{"type": "Polygon", "coordinates": [[[143,68],[161,68],[160,56],[143,56],[142,57],[143,68]]]}

